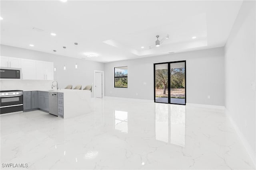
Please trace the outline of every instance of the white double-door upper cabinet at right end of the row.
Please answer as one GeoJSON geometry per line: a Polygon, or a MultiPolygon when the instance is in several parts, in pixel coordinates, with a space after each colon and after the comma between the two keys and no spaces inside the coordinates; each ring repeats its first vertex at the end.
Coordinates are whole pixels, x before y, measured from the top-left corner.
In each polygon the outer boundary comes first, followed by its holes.
{"type": "Polygon", "coordinates": [[[53,63],[36,61],[36,80],[53,80],[53,63]]]}

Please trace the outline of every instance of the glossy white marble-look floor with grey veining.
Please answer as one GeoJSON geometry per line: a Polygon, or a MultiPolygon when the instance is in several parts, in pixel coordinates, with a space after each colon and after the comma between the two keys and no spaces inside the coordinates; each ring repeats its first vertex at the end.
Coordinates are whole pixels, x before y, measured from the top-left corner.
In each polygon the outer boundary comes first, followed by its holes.
{"type": "Polygon", "coordinates": [[[42,111],[0,118],[1,163],[28,169],[255,168],[220,111],[96,98],[92,113],[71,119],[42,111]]]}

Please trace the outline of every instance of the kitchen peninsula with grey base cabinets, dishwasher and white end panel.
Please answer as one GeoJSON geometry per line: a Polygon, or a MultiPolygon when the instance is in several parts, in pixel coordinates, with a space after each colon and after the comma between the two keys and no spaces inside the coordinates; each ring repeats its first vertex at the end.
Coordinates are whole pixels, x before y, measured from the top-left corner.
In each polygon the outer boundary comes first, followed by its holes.
{"type": "Polygon", "coordinates": [[[67,119],[90,113],[90,99],[90,90],[24,90],[24,111],[41,109],[49,112],[51,107],[54,107],[56,115],[67,119]],[[55,103],[49,100],[50,94],[56,95],[55,103]]]}

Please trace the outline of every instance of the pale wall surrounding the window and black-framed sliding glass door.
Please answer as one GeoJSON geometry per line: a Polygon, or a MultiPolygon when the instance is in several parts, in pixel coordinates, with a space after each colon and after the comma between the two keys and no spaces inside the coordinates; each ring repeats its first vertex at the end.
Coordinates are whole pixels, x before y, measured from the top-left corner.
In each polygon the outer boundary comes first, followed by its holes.
{"type": "Polygon", "coordinates": [[[187,103],[224,106],[223,47],[106,63],[105,96],[154,100],[153,63],[182,60],[186,60],[187,103]],[[113,88],[117,66],[128,66],[127,89],[113,88]]]}

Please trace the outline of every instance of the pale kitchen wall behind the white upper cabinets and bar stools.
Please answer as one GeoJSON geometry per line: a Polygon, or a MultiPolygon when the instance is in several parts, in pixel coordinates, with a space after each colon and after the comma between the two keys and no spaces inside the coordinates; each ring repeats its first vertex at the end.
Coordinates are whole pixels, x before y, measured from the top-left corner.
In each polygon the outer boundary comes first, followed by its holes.
{"type": "MultiPolygon", "coordinates": [[[[43,53],[40,51],[33,51],[7,45],[1,45],[0,47],[1,56],[53,62],[54,67],[56,67],[56,71],[54,71],[54,80],[58,81],[58,85],[60,88],[65,88],[68,84],[72,84],[73,88],[74,86],[81,84],[82,88],[84,88],[86,85],[92,84],[94,82],[94,70],[104,70],[104,63],[98,63],[84,59],[76,59],[72,57],[65,57],[61,55],[54,55],[50,53],[43,53]],[[75,69],[76,63],[78,64],[77,69],[75,69]],[[64,65],[66,65],[66,70],[63,69],[64,65]]],[[[10,84],[12,83],[12,81],[13,80],[1,80],[1,85],[8,83],[10,84]]],[[[20,80],[21,85],[17,84],[17,89],[19,89],[20,86],[29,89],[31,88],[32,84],[34,84],[32,82],[40,84],[42,80],[33,80],[30,81],[30,83],[25,80],[20,80]]],[[[51,88],[51,86],[49,86],[49,88],[51,88]]],[[[94,90],[94,86],[92,90],[94,90]]],[[[92,91],[92,96],[94,96],[94,91],[92,91]]]]}

